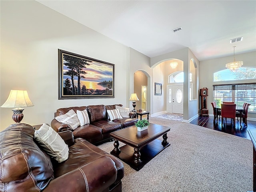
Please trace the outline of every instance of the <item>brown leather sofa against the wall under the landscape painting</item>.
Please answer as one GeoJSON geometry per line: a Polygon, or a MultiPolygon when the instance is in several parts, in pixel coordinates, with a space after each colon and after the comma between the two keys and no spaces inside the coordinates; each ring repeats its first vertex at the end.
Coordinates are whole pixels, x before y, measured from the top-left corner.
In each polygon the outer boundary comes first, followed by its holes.
{"type": "MultiPolygon", "coordinates": [[[[122,106],[122,104],[116,104],[122,106]]],[[[54,117],[66,114],[69,110],[87,110],[90,118],[90,124],[79,126],[75,130],[71,129],[71,126],[58,122],[53,119],[51,127],[56,132],[62,132],[70,130],[73,132],[74,138],[84,138],[92,144],[100,144],[110,140],[110,133],[128,126],[133,126],[138,119],[135,112],[130,112],[130,118],[115,119],[113,121],[108,120],[107,110],[116,109],[116,105],[90,105],[80,107],[68,107],[60,108],[54,113],[54,117]]]]}

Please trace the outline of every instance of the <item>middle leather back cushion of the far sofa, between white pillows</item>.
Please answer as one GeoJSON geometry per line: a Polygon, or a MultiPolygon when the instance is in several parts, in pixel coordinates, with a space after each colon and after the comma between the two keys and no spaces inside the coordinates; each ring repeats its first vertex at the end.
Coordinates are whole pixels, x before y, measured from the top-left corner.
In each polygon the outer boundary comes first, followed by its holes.
{"type": "Polygon", "coordinates": [[[90,118],[90,122],[106,120],[106,108],[104,105],[89,105],[88,114],[90,118]]]}

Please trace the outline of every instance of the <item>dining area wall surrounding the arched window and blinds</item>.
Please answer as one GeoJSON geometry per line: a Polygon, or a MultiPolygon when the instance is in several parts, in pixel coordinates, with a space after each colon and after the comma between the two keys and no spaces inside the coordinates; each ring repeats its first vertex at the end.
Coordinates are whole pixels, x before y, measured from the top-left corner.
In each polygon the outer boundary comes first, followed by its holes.
{"type": "MultiPolygon", "coordinates": [[[[235,55],[237,61],[243,61],[245,66],[256,67],[256,52],[248,52],[244,54],[235,55]]],[[[213,114],[211,102],[213,101],[213,86],[214,84],[234,84],[234,83],[250,83],[255,82],[254,80],[236,80],[234,81],[222,81],[214,82],[213,73],[219,70],[226,69],[226,63],[234,61],[234,56],[221,57],[216,59],[210,59],[200,62],[200,88],[208,88],[207,108],[209,114],[213,114]]],[[[256,114],[248,113],[248,117],[256,118],[256,114]]]]}

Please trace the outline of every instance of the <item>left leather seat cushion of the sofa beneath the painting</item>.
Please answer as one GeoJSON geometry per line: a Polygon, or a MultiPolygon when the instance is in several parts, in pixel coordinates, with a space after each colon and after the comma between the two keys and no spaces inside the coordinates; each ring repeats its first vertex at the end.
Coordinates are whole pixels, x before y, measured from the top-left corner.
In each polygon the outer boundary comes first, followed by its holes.
{"type": "Polygon", "coordinates": [[[86,124],[84,126],[79,126],[73,131],[74,138],[84,138],[90,139],[102,135],[102,130],[92,124],[86,124]]]}

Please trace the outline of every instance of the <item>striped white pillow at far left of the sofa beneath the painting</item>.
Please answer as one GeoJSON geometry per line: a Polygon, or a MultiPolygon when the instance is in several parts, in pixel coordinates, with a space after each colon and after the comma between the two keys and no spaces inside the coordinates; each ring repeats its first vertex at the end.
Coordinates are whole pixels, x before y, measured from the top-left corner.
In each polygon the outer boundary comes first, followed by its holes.
{"type": "Polygon", "coordinates": [[[71,126],[72,130],[76,129],[80,125],[77,114],[72,109],[69,110],[64,115],[59,115],[59,116],[55,117],[55,119],[58,122],[69,124],[71,126]]]}

